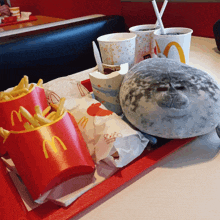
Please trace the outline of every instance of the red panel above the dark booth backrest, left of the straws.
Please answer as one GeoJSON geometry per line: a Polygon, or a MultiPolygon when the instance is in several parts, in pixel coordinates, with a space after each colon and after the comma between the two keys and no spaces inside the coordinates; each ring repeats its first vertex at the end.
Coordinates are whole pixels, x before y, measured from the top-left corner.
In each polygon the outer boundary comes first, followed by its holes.
{"type": "Polygon", "coordinates": [[[11,6],[19,6],[21,11],[31,11],[33,15],[57,18],[76,18],[92,14],[120,15],[120,0],[10,0],[11,6]]]}

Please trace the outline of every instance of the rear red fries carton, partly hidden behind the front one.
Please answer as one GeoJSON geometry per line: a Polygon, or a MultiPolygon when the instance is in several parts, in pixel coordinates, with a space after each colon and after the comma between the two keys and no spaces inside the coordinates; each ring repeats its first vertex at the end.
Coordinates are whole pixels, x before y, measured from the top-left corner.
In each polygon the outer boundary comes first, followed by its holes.
{"type": "MultiPolygon", "coordinates": [[[[9,91],[11,89],[8,89],[9,91]]],[[[0,127],[9,131],[24,130],[23,124],[27,122],[20,113],[20,106],[23,106],[31,114],[35,113],[34,107],[39,105],[41,110],[48,106],[44,89],[38,86],[29,91],[22,97],[15,98],[9,101],[0,102],[0,127]]],[[[0,137],[0,156],[6,154],[6,149],[3,144],[3,138],[0,137]]]]}

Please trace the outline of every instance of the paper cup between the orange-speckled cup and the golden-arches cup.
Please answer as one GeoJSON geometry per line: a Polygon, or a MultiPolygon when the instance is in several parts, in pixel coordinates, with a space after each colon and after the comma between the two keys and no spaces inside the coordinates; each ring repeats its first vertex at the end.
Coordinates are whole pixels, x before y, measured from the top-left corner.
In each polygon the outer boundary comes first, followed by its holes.
{"type": "Polygon", "coordinates": [[[142,60],[155,57],[155,41],[153,32],[160,27],[155,24],[137,25],[129,28],[131,33],[137,35],[135,48],[135,64],[142,60]]]}

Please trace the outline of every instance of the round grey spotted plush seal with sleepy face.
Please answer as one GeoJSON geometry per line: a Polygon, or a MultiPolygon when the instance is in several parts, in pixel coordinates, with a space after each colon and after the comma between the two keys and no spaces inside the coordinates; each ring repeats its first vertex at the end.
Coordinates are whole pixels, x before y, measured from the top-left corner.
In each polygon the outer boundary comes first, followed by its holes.
{"type": "Polygon", "coordinates": [[[125,76],[120,103],[138,129],[163,138],[188,138],[220,122],[220,89],[207,73],[171,59],[147,59],[125,76]]]}

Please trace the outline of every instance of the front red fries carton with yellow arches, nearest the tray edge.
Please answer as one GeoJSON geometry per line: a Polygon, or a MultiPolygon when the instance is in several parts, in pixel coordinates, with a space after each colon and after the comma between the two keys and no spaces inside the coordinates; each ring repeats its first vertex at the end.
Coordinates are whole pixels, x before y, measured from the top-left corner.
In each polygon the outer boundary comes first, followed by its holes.
{"type": "Polygon", "coordinates": [[[5,146],[34,200],[63,181],[92,173],[95,168],[70,113],[33,131],[10,133],[5,146]]]}

